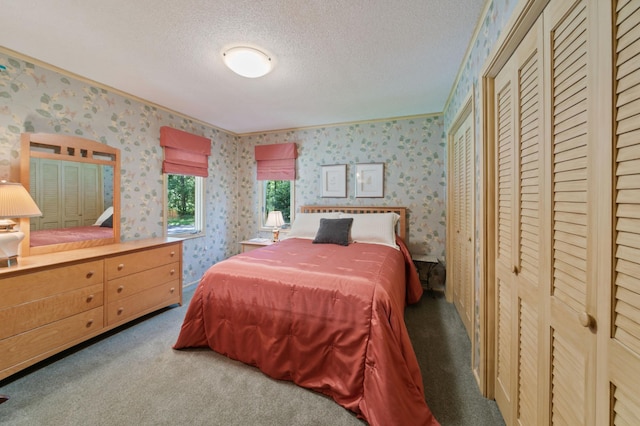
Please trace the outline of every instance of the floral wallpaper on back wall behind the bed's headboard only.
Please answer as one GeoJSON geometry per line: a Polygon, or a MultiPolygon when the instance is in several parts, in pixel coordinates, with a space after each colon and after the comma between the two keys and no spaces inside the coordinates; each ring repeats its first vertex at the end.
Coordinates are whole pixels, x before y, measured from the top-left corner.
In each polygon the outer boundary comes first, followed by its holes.
{"type": "Polygon", "coordinates": [[[268,132],[239,137],[241,238],[257,232],[255,145],[296,142],[296,206],[378,205],[408,208],[412,253],[445,255],[445,138],[441,115],[268,132]],[[384,198],[355,198],[355,165],[384,163],[384,198]],[[347,198],[321,197],[321,166],[347,165],[347,198]]]}

